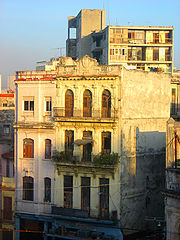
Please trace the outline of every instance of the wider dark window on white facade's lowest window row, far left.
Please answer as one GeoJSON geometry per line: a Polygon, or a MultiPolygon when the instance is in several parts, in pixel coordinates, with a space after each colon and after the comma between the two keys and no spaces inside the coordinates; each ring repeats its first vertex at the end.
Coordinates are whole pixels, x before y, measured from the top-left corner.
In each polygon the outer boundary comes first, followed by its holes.
{"type": "Polygon", "coordinates": [[[23,200],[33,201],[34,199],[34,179],[23,177],[23,200]]]}

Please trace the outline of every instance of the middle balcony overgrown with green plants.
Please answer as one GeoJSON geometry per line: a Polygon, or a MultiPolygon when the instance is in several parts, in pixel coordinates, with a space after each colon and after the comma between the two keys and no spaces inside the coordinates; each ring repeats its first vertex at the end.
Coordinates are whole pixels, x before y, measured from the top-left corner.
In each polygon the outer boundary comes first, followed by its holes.
{"type": "Polygon", "coordinates": [[[92,156],[91,161],[83,161],[80,155],[72,156],[69,152],[56,152],[53,156],[53,161],[56,164],[59,175],[62,172],[75,173],[75,175],[87,173],[92,174],[94,177],[97,174],[105,174],[106,176],[112,176],[114,179],[119,156],[117,153],[99,154],[92,156]]]}

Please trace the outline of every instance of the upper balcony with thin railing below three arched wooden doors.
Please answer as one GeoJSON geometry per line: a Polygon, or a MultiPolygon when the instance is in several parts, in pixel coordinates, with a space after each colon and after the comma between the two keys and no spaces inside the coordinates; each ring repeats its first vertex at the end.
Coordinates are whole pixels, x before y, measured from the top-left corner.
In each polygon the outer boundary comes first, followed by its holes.
{"type": "Polygon", "coordinates": [[[65,111],[65,108],[54,107],[53,108],[53,117],[54,120],[66,121],[66,122],[115,122],[118,120],[118,111],[111,110],[110,113],[101,112],[100,110],[92,110],[92,112],[84,112],[83,110],[74,109],[71,112],[65,111]]]}

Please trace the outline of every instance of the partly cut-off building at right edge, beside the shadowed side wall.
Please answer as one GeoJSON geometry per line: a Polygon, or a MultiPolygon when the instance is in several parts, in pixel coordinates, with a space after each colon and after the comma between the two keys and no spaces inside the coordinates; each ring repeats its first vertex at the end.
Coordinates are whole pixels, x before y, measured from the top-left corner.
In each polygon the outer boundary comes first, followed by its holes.
{"type": "Polygon", "coordinates": [[[165,216],[166,239],[180,238],[180,123],[178,116],[167,123],[165,216]]]}

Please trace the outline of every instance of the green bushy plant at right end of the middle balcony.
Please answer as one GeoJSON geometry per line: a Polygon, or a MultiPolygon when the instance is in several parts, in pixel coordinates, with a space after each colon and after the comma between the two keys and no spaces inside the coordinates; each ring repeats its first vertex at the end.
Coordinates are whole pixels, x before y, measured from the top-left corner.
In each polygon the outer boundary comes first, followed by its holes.
{"type": "Polygon", "coordinates": [[[119,163],[118,153],[100,153],[93,160],[96,166],[114,166],[119,163]]]}

